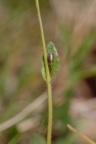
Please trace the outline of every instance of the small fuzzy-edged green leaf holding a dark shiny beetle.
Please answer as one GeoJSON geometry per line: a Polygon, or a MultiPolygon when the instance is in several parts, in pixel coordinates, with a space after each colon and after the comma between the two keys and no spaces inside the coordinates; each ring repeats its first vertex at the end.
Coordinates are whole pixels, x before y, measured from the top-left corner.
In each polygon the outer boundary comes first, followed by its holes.
{"type": "MultiPolygon", "coordinates": [[[[59,63],[58,53],[57,53],[56,48],[52,42],[50,42],[47,45],[46,51],[47,51],[47,56],[49,53],[53,54],[53,62],[51,64],[48,63],[49,73],[50,73],[50,77],[51,77],[51,81],[52,81],[54,79],[54,77],[56,76],[57,71],[58,71],[58,63],[59,63]]],[[[46,75],[44,58],[42,58],[42,76],[43,76],[44,80],[46,81],[47,75],[46,75]]]]}

